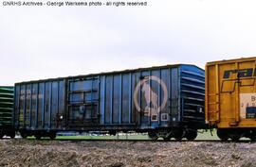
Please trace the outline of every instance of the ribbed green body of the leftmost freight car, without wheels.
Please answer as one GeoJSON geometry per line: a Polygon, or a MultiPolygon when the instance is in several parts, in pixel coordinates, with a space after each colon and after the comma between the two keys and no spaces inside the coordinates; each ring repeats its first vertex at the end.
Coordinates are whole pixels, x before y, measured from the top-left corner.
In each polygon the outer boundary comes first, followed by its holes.
{"type": "Polygon", "coordinates": [[[0,126],[12,126],[13,87],[0,87],[0,126]]]}

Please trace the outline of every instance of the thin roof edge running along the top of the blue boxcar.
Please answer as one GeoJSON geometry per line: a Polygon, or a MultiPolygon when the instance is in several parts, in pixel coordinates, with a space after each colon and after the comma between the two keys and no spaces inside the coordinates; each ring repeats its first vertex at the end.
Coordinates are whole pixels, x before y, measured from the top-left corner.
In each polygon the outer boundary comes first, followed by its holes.
{"type": "Polygon", "coordinates": [[[70,75],[70,76],[64,76],[64,77],[56,77],[56,78],[47,78],[47,79],[39,79],[39,80],[31,80],[31,81],[24,81],[24,82],[17,82],[15,85],[19,84],[31,84],[31,83],[37,83],[37,82],[46,82],[46,81],[57,81],[62,80],[66,78],[80,78],[80,77],[89,77],[89,76],[95,76],[95,75],[116,75],[116,74],[125,74],[125,73],[133,73],[133,72],[139,72],[139,71],[145,71],[145,70],[158,70],[163,68],[173,68],[178,67],[181,65],[188,65],[196,67],[200,70],[203,70],[202,68],[193,65],[193,64],[168,64],[168,65],[162,65],[162,66],[153,66],[153,67],[145,67],[145,68],[137,68],[137,69],[127,69],[127,70],[121,70],[121,71],[113,71],[113,72],[103,72],[103,73],[95,73],[95,74],[88,74],[88,75],[70,75]]]}

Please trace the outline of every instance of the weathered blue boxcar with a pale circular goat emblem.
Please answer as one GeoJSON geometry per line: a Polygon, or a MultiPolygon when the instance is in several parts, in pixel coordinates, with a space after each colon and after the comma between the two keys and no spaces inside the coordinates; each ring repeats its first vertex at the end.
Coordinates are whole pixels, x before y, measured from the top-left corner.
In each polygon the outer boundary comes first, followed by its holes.
{"type": "Polygon", "coordinates": [[[23,137],[132,130],[193,140],[205,124],[204,99],[204,70],[185,64],[22,82],[15,127],[23,137]]]}

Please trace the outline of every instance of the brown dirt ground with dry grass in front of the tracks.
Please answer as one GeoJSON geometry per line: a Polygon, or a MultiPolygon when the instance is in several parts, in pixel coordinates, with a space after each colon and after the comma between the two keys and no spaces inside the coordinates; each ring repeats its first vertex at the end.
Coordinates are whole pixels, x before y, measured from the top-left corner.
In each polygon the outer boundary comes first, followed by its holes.
{"type": "Polygon", "coordinates": [[[256,143],[0,140],[0,166],[256,166],[256,143]]]}

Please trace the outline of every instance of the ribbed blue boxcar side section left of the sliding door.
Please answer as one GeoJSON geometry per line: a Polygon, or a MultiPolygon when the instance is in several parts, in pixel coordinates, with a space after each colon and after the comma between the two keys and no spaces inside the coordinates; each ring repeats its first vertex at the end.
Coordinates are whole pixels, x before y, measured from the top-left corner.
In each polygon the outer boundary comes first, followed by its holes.
{"type": "Polygon", "coordinates": [[[65,81],[15,85],[15,125],[27,129],[55,129],[65,125],[65,81]]]}

